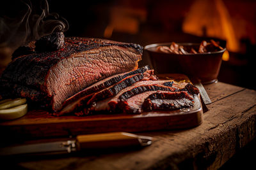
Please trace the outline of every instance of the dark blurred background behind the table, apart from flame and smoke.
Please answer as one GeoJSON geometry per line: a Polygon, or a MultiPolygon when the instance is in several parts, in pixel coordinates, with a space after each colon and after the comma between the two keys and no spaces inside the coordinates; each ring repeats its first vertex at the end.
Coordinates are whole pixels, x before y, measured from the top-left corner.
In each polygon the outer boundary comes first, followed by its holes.
{"type": "MultiPolygon", "coordinates": [[[[48,2],[50,12],[56,12],[68,21],[69,29],[65,32],[65,36],[113,39],[138,43],[142,46],[172,41],[200,42],[209,39],[206,34],[196,36],[182,31],[182,24],[188,16],[191,6],[196,2],[195,0],[48,0],[48,2]],[[109,27],[111,24],[112,28],[109,27]]],[[[256,90],[254,83],[256,1],[223,0],[221,2],[225,4],[230,15],[230,23],[238,37],[240,48],[236,52],[229,51],[230,58],[227,61],[223,60],[218,80],[256,90]]],[[[20,1],[8,1],[7,3],[6,6],[0,6],[0,16],[17,17],[22,11],[20,1]]],[[[40,1],[34,0],[33,3],[36,4],[35,8],[40,10],[40,1]]],[[[211,3],[209,5],[211,6],[211,3]]],[[[209,13],[211,12],[210,10],[209,13]]],[[[209,13],[205,13],[205,15],[209,15],[209,13]]],[[[1,26],[3,23],[0,22],[1,26]]],[[[3,29],[0,29],[0,34],[1,30],[3,31],[3,29]]],[[[226,41],[227,39],[221,40],[226,41]]],[[[141,66],[145,64],[150,64],[147,55],[143,55],[143,60],[140,62],[141,66]]],[[[255,167],[255,164],[253,165],[255,140],[239,153],[221,169],[237,169],[237,167],[243,169],[244,166],[241,165],[246,165],[245,167],[248,168],[255,167]]]]}

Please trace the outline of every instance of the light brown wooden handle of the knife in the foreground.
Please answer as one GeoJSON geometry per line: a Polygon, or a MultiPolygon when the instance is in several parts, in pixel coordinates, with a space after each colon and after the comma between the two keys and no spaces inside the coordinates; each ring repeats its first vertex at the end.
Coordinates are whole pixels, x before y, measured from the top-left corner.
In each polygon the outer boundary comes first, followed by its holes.
{"type": "MultiPolygon", "coordinates": [[[[127,132],[110,132],[104,134],[86,134],[77,136],[77,150],[84,148],[118,148],[124,146],[141,146],[140,136],[127,132]]],[[[150,141],[150,137],[148,139],[150,141]]],[[[150,144],[149,144],[150,145],[150,144]]]]}

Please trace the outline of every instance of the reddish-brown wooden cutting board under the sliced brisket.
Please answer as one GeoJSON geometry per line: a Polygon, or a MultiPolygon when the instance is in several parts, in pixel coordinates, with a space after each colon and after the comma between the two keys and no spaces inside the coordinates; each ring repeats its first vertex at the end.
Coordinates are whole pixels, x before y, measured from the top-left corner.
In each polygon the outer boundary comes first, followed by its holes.
{"type": "MultiPolygon", "coordinates": [[[[189,79],[182,74],[161,74],[180,83],[189,79]]],[[[68,137],[99,132],[143,132],[184,129],[202,123],[202,104],[195,97],[195,106],[175,111],[151,111],[137,115],[109,114],[77,117],[54,117],[44,110],[31,110],[17,120],[0,122],[1,135],[8,138],[68,137]]]]}

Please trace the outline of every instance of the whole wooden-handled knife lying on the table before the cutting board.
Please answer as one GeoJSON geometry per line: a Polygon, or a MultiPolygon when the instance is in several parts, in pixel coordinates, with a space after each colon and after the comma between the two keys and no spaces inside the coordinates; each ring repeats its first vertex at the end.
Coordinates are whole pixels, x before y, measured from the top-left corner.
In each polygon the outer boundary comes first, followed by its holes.
{"type": "Polygon", "coordinates": [[[138,136],[127,132],[110,132],[102,134],[79,135],[74,140],[36,143],[29,145],[8,146],[0,148],[0,156],[8,155],[40,155],[47,153],[72,153],[84,149],[120,148],[125,146],[148,146],[152,137],[138,136]]]}

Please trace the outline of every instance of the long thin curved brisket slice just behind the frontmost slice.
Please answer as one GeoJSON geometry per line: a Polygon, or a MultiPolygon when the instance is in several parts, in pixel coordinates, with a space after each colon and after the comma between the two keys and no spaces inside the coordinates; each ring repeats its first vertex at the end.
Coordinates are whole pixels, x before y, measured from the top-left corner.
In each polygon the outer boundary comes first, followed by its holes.
{"type": "MultiPolygon", "coordinates": [[[[150,76],[149,76],[150,77],[150,76]]],[[[147,91],[156,91],[156,90],[166,90],[166,91],[175,91],[178,89],[172,88],[173,81],[170,80],[148,80],[148,81],[138,81],[133,85],[126,87],[121,90],[116,96],[109,97],[108,99],[98,101],[90,107],[90,111],[102,111],[108,110],[111,112],[116,112],[116,108],[119,101],[125,101],[129,97],[132,97],[137,94],[141,94],[147,91]]]]}

